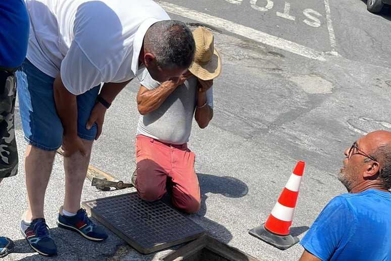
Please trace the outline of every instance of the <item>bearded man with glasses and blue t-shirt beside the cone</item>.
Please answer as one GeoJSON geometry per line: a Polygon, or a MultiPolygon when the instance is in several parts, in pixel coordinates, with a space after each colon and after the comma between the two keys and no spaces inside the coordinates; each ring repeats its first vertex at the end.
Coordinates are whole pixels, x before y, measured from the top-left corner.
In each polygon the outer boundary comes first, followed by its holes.
{"type": "Polygon", "coordinates": [[[333,198],[301,244],[301,261],[391,260],[391,132],[377,130],[345,150],[333,198]]]}

